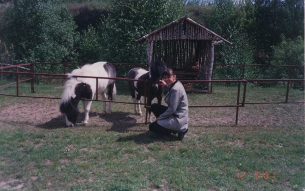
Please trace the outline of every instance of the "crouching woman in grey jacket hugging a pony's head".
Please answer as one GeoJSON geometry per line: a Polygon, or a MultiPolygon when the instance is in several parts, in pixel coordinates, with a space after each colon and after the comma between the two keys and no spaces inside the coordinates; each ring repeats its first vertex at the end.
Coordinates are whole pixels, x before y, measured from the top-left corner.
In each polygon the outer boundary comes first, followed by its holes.
{"type": "Polygon", "coordinates": [[[188,131],[188,101],[186,92],[181,82],[177,81],[172,69],[167,69],[162,74],[159,84],[168,85],[169,90],[164,101],[168,106],[152,104],[151,111],[156,121],[150,124],[149,129],[154,133],[165,135],[178,133],[178,139],[182,140],[188,131]]]}

